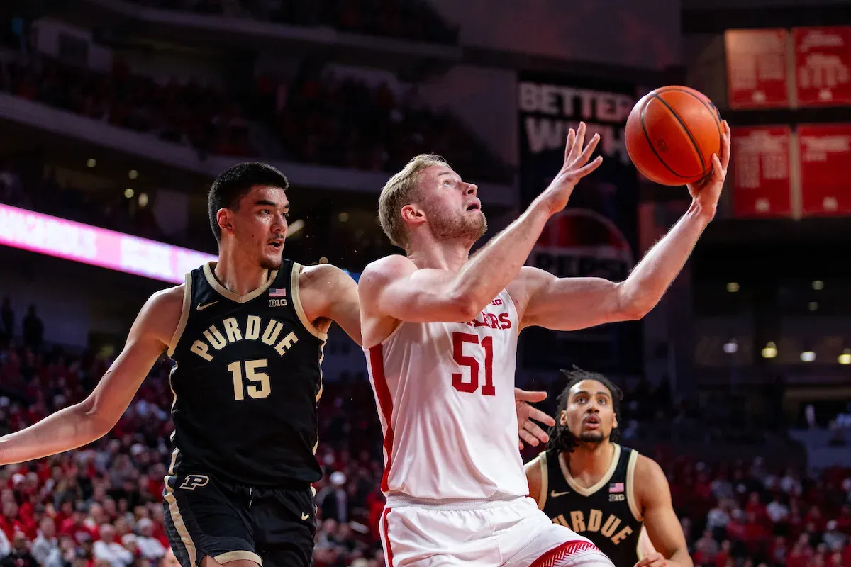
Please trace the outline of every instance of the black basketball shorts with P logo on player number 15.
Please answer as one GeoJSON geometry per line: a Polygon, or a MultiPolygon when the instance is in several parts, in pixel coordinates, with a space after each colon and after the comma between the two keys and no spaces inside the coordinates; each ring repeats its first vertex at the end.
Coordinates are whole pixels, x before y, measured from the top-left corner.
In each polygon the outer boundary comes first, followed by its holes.
{"type": "Polygon", "coordinates": [[[264,567],[311,564],[316,507],[309,486],[259,488],[183,473],[165,478],[163,511],[181,567],[199,567],[206,555],[221,564],[237,559],[264,567]]]}

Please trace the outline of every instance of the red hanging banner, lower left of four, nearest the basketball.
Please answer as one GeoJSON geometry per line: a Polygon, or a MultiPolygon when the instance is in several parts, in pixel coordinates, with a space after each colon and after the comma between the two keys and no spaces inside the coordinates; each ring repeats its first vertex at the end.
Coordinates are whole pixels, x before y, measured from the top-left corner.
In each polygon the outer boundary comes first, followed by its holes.
{"type": "Polygon", "coordinates": [[[736,217],[791,215],[788,126],[733,128],[733,213],[736,217]]]}

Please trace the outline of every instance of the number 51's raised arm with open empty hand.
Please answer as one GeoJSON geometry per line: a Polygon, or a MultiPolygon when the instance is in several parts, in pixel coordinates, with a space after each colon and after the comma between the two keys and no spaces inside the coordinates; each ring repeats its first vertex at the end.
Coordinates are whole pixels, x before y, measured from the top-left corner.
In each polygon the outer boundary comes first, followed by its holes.
{"type": "Polygon", "coordinates": [[[600,163],[589,163],[597,147],[595,134],[585,142],[585,124],[568,134],[564,165],[550,186],[505,230],[488,241],[458,273],[417,269],[403,256],[369,264],[359,282],[364,315],[412,322],[472,320],[511,282],[523,266],[551,215],[561,211],[580,179],[600,163]]]}

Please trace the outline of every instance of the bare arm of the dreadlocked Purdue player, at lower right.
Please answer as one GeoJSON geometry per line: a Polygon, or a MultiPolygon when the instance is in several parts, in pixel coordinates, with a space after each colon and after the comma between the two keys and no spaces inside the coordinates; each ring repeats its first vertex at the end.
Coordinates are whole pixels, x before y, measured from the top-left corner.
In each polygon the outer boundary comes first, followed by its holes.
{"type": "Polygon", "coordinates": [[[643,513],[644,528],[656,550],[636,567],[694,567],[683,528],[671,504],[668,479],[659,464],[647,456],[638,456],[634,490],[636,504],[643,513]]]}

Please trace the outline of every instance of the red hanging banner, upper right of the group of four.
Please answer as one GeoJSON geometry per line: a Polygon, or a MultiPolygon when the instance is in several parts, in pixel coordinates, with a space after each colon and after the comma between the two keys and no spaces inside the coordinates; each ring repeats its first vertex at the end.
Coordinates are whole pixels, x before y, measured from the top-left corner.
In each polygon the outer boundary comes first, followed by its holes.
{"type": "Polygon", "coordinates": [[[797,103],[851,103],[851,27],[797,27],[795,44],[797,103]]]}

